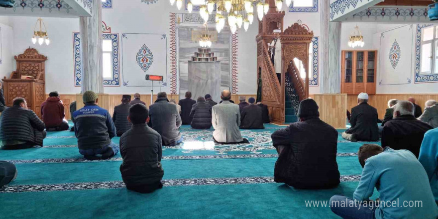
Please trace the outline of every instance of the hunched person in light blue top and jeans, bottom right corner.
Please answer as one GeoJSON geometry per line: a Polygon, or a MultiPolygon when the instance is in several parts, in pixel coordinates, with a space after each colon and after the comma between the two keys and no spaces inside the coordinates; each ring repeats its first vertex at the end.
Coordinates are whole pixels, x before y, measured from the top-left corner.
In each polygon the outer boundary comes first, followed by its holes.
{"type": "Polygon", "coordinates": [[[334,214],[343,219],[437,219],[438,207],[428,175],[414,154],[364,144],[358,156],[363,171],[354,200],[331,197],[334,214]],[[379,192],[378,202],[369,200],[374,187],[379,192]]]}

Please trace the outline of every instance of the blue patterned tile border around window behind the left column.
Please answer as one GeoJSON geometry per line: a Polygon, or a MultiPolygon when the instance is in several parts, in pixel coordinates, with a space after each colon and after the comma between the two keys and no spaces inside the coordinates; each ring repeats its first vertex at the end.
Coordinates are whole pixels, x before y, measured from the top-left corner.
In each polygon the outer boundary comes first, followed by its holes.
{"type": "MultiPolygon", "coordinates": [[[[82,85],[82,62],[81,62],[81,34],[73,33],[73,52],[74,52],[74,67],[75,67],[75,87],[82,85]]],[[[119,72],[119,55],[118,55],[118,34],[104,33],[103,39],[112,40],[112,80],[104,80],[105,87],[120,86],[120,72],[119,72]]]]}

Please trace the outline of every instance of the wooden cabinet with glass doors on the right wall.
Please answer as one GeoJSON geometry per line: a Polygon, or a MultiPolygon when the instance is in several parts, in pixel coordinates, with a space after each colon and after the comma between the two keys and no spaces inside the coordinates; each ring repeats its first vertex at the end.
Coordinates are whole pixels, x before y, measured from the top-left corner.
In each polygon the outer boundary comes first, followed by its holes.
{"type": "Polygon", "coordinates": [[[342,51],[341,93],[376,94],[377,51],[342,51]]]}

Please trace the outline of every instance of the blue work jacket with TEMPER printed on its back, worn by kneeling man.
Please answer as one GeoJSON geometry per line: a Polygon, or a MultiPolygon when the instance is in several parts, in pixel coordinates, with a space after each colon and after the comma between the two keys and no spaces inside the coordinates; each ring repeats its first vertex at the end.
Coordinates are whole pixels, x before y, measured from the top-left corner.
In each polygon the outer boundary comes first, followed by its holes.
{"type": "Polygon", "coordinates": [[[102,148],[115,136],[115,126],[108,110],[87,104],[73,112],[79,149],[102,148]]]}

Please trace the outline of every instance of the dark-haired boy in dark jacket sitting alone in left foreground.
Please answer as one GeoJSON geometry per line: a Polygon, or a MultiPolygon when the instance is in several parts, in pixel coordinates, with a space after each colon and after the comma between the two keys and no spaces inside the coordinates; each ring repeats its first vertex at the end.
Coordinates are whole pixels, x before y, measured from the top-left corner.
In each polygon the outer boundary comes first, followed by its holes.
{"type": "Polygon", "coordinates": [[[161,136],[147,126],[149,112],[143,104],[129,109],[128,120],[132,128],[120,137],[121,177],[128,190],[151,193],[163,187],[161,136]]]}

